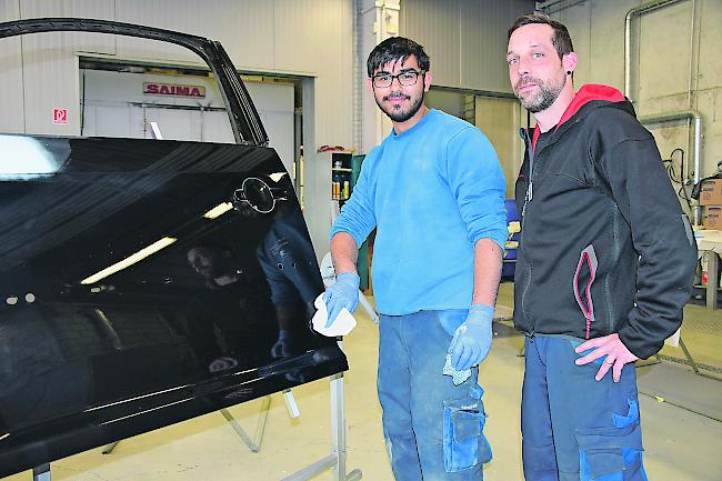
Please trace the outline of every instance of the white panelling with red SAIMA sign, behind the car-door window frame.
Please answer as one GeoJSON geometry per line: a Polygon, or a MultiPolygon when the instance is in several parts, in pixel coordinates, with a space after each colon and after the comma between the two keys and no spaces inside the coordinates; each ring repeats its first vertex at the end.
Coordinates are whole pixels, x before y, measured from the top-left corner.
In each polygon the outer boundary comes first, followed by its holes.
{"type": "MultiPolygon", "coordinates": [[[[232,143],[220,92],[202,76],[164,76],[81,69],[81,134],[232,143]]],[[[293,166],[293,86],[247,82],[253,103],[285,168],[293,166]]]]}

